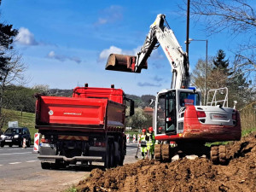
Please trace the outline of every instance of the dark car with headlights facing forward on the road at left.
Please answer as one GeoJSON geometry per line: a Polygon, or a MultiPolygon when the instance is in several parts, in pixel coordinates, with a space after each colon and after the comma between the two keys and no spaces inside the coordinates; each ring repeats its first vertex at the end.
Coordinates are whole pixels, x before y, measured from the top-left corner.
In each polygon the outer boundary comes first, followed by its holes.
{"type": "Polygon", "coordinates": [[[23,138],[26,138],[26,147],[30,147],[31,145],[31,136],[30,132],[26,127],[19,128],[8,128],[0,138],[0,146],[3,148],[4,145],[9,145],[12,147],[13,145],[19,145],[22,147],[23,138]]]}

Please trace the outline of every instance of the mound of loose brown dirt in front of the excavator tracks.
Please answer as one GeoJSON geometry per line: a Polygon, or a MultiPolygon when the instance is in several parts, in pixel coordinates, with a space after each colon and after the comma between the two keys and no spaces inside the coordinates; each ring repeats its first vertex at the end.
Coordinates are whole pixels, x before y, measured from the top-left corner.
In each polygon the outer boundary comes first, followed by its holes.
{"type": "Polygon", "coordinates": [[[256,191],[256,132],[227,146],[228,166],[183,158],[172,163],[139,160],[81,181],[80,191],[256,191]]]}

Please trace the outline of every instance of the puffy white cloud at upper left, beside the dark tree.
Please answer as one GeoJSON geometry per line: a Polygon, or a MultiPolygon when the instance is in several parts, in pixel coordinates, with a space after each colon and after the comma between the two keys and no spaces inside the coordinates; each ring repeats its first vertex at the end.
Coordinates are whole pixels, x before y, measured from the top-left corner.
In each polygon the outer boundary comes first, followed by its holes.
{"type": "Polygon", "coordinates": [[[34,35],[32,32],[30,32],[27,28],[25,27],[20,27],[19,33],[15,40],[19,44],[24,44],[24,45],[37,45],[38,42],[35,40],[34,35]]]}

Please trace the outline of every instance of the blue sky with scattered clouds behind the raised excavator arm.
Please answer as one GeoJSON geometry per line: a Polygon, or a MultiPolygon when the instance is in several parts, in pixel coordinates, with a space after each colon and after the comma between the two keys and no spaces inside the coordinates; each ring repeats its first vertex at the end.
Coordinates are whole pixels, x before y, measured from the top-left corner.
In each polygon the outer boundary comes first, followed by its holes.
{"type": "MultiPolygon", "coordinates": [[[[15,48],[28,66],[26,86],[73,89],[88,83],[94,87],[125,90],[137,96],[170,88],[171,67],[159,48],[142,73],[106,71],[111,52],[135,55],[143,45],[156,15],[165,14],[179,44],[185,50],[186,16],[177,8],[182,1],[86,1],[3,0],[1,21],[20,30],[15,48]]],[[[183,5],[184,8],[186,5],[183,5]]],[[[234,41],[227,34],[207,37],[201,23],[190,23],[189,38],[208,39],[208,55],[229,49],[234,41]]],[[[205,58],[206,43],[191,42],[190,71],[205,58]]]]}

